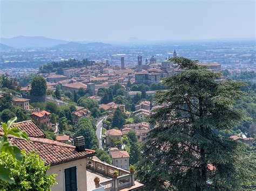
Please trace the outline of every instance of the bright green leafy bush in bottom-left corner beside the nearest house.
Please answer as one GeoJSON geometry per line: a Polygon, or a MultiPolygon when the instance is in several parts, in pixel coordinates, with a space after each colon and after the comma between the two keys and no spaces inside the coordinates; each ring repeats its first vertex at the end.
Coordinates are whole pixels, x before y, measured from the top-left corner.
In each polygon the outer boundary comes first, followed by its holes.
{"type": "MultiPolygon", "coordinates": [[[[50,190],[55,185],[56,174],[46,175],[49,166],[45,166],[36,153],[23,153],[21,164],[9,153],[1,153],[0,163],[10,167],[15,183],[0,180],[3,190],[50,190]]],[[[1,172],[2,173],[2,172],[1,172]]]]}

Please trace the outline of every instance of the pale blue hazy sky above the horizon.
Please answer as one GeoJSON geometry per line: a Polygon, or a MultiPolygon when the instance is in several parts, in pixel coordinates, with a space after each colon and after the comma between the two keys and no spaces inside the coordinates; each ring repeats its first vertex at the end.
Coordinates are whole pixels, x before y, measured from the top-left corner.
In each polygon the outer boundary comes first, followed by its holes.
{"type": "Polygon", "coordinates": [[[1,37],[123,41],[255,38],[255,1],[0,0],[1,37]]]}

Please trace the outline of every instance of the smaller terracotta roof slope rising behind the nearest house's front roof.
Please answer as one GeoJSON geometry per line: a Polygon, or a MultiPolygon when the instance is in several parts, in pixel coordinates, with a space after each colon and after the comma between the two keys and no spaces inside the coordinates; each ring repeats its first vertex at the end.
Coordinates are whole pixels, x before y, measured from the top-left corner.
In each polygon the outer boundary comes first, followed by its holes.
{"type": "MultiPolygon", "coordinates": [[[[39,129],[38,126],[36,126],[36,124],[31,120],[15,123],[12,125],[12,127],[16,125],[18,126],[18,129],[25,131],[29,137],[45,138],[43,131],[39,129]]],[[[0,126],[0,132],[3,132],[2,126],[0,126]]]]}

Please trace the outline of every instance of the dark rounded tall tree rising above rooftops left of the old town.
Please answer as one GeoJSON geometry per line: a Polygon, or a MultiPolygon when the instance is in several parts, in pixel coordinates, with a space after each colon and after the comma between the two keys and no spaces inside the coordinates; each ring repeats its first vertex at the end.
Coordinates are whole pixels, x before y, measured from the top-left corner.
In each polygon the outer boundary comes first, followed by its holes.
{"type": "Polygon", "coordinates": [[[46,95],[46,81],[43,76],[36,76],[31,82],[30,94],[34,96],[46,95]]]}

